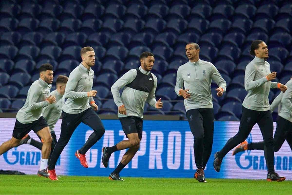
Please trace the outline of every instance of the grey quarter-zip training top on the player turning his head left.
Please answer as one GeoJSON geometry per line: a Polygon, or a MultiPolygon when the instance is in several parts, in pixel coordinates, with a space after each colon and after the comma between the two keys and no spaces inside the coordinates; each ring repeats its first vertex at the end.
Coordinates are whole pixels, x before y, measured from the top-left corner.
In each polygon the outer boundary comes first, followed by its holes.
{"type": "Polygon", "coordinates": [[[211,82],[212,79],[226,91],[226,82],[217,68],[210,62],[199,59],[181,65],[176,75],[175,92],[178,96],[180,89],[190,89],[189,99],[184,100],[186,111],[197,108],[213,108],[211,82]]]}

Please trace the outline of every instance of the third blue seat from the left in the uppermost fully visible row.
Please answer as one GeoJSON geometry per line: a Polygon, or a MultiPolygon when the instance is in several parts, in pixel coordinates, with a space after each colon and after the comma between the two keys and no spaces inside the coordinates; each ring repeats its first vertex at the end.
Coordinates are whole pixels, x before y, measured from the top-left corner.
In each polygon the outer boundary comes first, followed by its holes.
{"type": "Polygon", "coordinates": [[[38,18],[41,20],[48,18],[57,18],[63,11],[63,7],[61,5],[55,3],[48,3],[43,6],[43,9],[38,18]]]}

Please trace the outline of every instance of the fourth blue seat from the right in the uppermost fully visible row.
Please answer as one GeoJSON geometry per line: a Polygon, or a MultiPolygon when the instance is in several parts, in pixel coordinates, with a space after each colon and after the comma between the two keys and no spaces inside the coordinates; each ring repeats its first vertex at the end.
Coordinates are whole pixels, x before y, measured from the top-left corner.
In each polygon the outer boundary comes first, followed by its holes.
{"type": "Polygon", "coordinates": [[[234,8],[232,5],[220,4],[213,8],[212,15],[210,16],[210,20],[218,20],[218,19],[228,19],[234,13],[234,8]]]}

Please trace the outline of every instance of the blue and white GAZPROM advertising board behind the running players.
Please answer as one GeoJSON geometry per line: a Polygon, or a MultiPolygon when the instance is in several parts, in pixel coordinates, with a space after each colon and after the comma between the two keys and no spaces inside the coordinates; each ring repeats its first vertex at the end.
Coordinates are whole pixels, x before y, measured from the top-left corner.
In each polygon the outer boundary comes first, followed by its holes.
{"type": "MultiPolygon", "coordinates": [[[[56,165],[58,175],[108,176],[121,161],[126,150],[117,151],[109,160],[109,167],[101,162],[104,146],[113,146],[127,139],[119,120],[102,120],[106,132],[104,136],[86,153],[89,168],[80,165],[74,153],[93,132],[81,123],[69,143],[63,150],[56,165]]],[[[12,136],[15,119],[0,118],[0,144],[12,136]]],[[[59,120],[55,127],[57,139],[60,136],[59,120]]],[[[265,179],[267,167],[263,151],[244,151],[232,156],[230,151],[219,173],[213,168],[214,153],[220,150],[226,141],[238,132],[239,122],[215,121],[212,154],[206,166],[206,178],[248,178],[265,179]]],[[[274,123],[274,130],[276,123],[274,123]]],[[[36,140],[33,131],[29,133],[36,140]]],[[[258,125],[255,125],[248,142],[263,141],[258,125]]],[[[140,149],[132,161],[122,170],[121,176],[131,177],[193,177],[196,170],[194,163],[193,136],[187,121],[144,120],[143,137],[140,149]]],[[[292,152],[285,141],[275,155],[275,170],[280,175],[292,180],[292,152]]],[[[36,174],[41,159],[41,151],[31,145],[23,144],[0,156],[0,169],[18,170],[26,174],[36,174]]]]}

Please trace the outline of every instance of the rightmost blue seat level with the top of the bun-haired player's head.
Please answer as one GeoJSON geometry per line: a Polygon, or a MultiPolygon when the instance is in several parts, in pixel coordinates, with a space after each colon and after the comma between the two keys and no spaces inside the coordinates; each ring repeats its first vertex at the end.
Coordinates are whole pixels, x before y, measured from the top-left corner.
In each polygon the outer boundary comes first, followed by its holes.
{"type": "Polygon", "coordinates": [[[292,37],[288,33],[276,33],[270,37],[269,48],[272,47],[288,47],[292,42],[292,37]]]}

